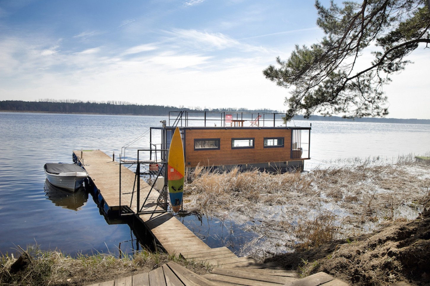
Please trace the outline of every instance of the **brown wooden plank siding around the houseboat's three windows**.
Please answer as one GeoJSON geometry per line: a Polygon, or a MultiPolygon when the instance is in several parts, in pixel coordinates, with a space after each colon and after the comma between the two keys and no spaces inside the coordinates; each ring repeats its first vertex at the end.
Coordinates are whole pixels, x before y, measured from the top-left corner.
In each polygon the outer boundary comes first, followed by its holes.
{"type": "Polygon", "coordinates": [[[185,165],[195,167],[291,161],[288,128],[184,128],[185,165]],[[264,148],[264,138],[284,138],[283,147],[264,148]],[[194,139],[220,139],[216,150],[194,150],[194,139]],[[232,138],[254,138],[254,148],[232,149],[232,138]]]}

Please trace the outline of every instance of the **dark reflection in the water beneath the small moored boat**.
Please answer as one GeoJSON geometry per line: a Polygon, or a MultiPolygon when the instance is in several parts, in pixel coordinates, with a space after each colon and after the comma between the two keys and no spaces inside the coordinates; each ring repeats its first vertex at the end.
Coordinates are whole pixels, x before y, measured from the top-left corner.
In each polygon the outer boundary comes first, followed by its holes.
{"type": "Polygon", "coordinates": [[[55,187],[46,179],[43,189],[48,197],[47,199],[51,200],[56,206],[69,210],[80,210],[88,200],[88,192],[84,187],[76,189],[75,192],[70,192],[55,187]]]}

